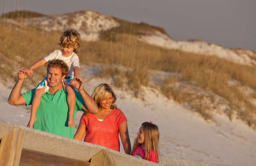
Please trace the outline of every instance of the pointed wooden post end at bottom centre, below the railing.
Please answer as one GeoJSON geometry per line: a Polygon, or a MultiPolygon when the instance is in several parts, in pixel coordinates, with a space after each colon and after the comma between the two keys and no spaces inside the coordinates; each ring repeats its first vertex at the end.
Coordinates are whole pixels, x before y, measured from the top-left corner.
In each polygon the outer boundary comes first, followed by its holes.
{"type": "Polygon", "coordinates": [[[90,166],[116,166],[116,163],[112,157],[106,150],[101,150],[96,155],[92,156],[90,166]]]}

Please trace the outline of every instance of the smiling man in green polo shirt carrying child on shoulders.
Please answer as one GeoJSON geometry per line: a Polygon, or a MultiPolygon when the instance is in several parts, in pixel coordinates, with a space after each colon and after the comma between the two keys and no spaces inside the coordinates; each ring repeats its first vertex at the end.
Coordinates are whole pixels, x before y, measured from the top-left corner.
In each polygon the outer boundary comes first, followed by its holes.
{"type": "MultiPolygon", "coordinates": [[[[74,138],[75,126],[68,127],[68,104],[67,92],[62,85],[62,79],[68,74],[68,65],[60,60],[54,59],[48,63],[47,75],[49,90],[42,96],[41,104],[36,113],[34,129],[68,138],[74,138]],[[63,74],[64,73],[64,74],[63,74]]],[[[31,105],[35,89],[23,94],[20,93],[24,80],[28,77],[28,69],[20,70],[18,81],[12,88],[8,103],[12,105],[31,105]]],[[[84,81],[80,77],[74,78],[78,81],[76,85],[76,106],[75,110],[83,110],[91,114],[98,113],[97,103],[84,91],[84,81]]],[[[74,112],[74,121],[76,117],[74,112]]]]}

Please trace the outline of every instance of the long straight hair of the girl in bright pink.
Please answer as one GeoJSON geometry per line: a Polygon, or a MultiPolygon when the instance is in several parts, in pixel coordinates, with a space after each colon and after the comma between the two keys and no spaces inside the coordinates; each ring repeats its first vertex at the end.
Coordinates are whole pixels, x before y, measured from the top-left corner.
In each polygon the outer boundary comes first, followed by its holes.
{"type": "MultiPolygon", "coordinates": [[[[145,149],[145,160],[148,160],[150,157],[151,149],[154,151],[156,157],[156,162],[159,162],[158,157],[158,142],[159,142],[159,129],[156,124],[152,122],[144,122],[141,124],[142,131],[144,134],[144,149],[145,149]]],[[[140,146],[140,143],[137,142],[137,137],[134,140],[131,155],[134,150],[140,146]]]]}

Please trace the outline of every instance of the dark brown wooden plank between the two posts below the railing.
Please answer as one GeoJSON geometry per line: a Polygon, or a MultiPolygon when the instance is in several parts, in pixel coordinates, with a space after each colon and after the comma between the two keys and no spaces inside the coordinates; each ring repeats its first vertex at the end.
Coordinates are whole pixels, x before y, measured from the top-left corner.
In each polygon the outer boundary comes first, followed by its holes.
{"type": "Polygon", "coordinates": [[[90,162],[22,149],[20,166],[90,166],[90,162]]]}

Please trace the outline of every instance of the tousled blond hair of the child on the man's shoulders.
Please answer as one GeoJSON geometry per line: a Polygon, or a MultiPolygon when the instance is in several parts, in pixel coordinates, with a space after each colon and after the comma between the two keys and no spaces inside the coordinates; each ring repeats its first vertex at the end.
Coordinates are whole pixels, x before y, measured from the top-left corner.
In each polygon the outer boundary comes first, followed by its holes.
{"type": "Polygon", "coordinates": [[[60,42],[58,43],[58,45],[64,47],[70,46],[74,48],[74,53],[78,53],[81,47],[80,43],[80,34],[74,29],[67,29],[61,33],[60,42]]]}

